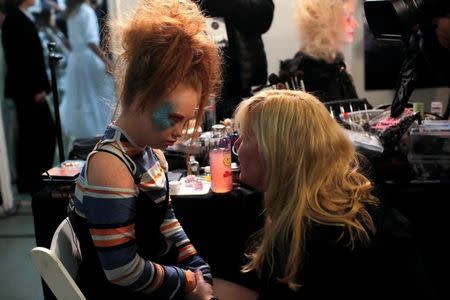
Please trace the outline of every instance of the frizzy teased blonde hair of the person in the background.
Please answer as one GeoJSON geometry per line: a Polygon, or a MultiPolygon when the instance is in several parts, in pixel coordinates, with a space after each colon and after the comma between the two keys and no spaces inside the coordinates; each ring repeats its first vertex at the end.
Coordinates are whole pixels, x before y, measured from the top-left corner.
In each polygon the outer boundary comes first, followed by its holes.
{"type": "Polygon", "coordinates": [[[348,1],[356,0],[297,0],[295,19],[304,53],[328,62],[336,58],[344,31],[343,6],[348,1]]]}

